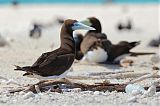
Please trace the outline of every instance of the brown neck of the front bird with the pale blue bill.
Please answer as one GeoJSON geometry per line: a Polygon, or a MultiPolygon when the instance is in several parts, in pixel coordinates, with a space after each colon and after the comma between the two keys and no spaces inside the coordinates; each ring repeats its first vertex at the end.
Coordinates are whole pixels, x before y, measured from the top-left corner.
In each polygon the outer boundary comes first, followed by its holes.
{"type": "Polygon", "coordinates": [[[69,52],[75,53],[75,42],[73,38],[73,31],[66,28],[65,24],[63,24],[61,29],[61,46],[60,48],[63,48],[69,52]]]}

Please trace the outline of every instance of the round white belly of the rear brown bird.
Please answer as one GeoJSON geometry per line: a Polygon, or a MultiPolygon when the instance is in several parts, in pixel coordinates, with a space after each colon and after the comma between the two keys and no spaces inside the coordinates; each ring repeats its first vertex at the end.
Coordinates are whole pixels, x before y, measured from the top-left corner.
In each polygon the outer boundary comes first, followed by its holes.
{"type": "Polygon", "coordinates": [[[108,58],[107,52],[98,47],[97,49],[94,49],[93,51],[88,51],[82,60],[88,61],[88,62],[94,62],[94,63],[100,63],[105,62],[108,58]]]}

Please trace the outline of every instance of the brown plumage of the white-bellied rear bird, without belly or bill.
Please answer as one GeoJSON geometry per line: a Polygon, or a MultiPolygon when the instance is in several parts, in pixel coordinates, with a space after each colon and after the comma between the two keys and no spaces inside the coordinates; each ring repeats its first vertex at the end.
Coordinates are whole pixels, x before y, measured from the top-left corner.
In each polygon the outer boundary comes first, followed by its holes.
{"type": "Polygon", "coordinates": [[[88,18],[88,20],[91,23],[91,27],[94,27],[96,30],[88,31],[85,34],[80,46],[83,54],[87,54],[88,51],[92,51],[93,49],[100,47],[107,52],[108,58],[106,62],[108,63],[112,63],[114,59],[124,54],[131,56],[155,54],[145,52],[130,52],[131,49],[140,44],[140,41],[120,41],[118,44],[112,44],[112,42],[107,39],[106,34],[102,33],[100,21],[95,17],[88,18]]]}

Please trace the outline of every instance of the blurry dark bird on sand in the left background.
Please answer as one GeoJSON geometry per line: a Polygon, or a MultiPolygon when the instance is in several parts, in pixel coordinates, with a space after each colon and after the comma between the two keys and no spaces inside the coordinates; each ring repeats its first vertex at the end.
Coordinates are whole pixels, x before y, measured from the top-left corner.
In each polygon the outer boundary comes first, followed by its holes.
{"type": "Polygon", "coordinates": [[[40,38],[41,35],[42,35],[41,25],[34,23],[33,29],[30,30],[29,36],[31,38],[37,39],[37,38],[40,38]]]}

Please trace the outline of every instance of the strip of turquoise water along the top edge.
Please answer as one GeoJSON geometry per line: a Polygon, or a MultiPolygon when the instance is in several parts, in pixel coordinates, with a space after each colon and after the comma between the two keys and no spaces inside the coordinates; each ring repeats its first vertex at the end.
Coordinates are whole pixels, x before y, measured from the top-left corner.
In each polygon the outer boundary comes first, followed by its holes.
{"type": "MultiPolygon", "coordinates": [[[[13,0],[0,0],[0,4],[9,4],[13,0]]],[[[90,4],[102,4],[105,1],[111,0],[16,0],[22,4],[32,3],[90,3],[90,4]]],[[[112,0],[113,3],[160,3],[160,0],[112,0]]]]}

